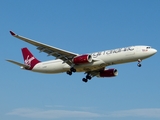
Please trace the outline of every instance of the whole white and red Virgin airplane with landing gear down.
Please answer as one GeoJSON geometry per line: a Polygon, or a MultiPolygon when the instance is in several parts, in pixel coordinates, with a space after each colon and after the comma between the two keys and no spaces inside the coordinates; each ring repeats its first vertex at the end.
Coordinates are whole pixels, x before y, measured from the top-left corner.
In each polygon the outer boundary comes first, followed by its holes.
{"type": "Polygon", "coordinates": [[[66,72],[68,75],[72,75],[75,72],[85,72],[86,76],[82,79],[83,82],[88,82],[93,77],[117,76],[117,69],[106,69],[106,67],[111,65],[137,61],[137,66],[141,67],[142,60],[153,56],[157,52],[156,49],[150,46],[138,45],[89,54],[77,54],[31,40],[15,34],[13,31],[10,31],[10,34],[15,38],[36,46],[40,52],[45,52],[48,56],[54,56],[56,59],[41,62],[34,57],[28,48],[22,48],[24,64],[13,60],[7,60],[8,62],[16,64],[25,70],[46,74],[66,72]]]}

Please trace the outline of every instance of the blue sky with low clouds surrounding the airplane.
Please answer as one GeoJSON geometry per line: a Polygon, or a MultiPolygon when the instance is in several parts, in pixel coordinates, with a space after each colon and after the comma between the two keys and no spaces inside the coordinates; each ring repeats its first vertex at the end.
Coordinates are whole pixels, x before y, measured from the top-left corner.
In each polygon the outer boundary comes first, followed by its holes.
{"type": "Polygon", "coordinates": [[[0,0],[1,120],[159,120],[159,0],[0,0]],[[19,35],[84,54],[131,45],[149,45],[158,52],[137,63],[108,68],[114,78],[82,82],[84,73],[68,76],[21,70],[21,48],[41,61],[55,59],[19,35]]]}

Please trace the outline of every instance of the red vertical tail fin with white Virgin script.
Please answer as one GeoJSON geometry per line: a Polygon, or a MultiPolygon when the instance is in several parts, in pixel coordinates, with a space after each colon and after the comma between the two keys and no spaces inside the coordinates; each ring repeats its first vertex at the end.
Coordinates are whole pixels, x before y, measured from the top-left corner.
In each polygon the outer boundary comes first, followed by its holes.
{"type": "Polygon", "coordinates": [[[24,64],[30,66],[30,70],[40,61],[37,60],[27,48],[22,48],[24,64]]]}

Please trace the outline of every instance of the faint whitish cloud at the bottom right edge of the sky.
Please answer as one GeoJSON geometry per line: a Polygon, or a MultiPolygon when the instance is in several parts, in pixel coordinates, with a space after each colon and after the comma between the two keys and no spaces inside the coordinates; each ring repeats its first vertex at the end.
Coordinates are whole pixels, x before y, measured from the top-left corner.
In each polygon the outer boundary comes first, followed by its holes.
{"type": "Polygon", "coordinates": [[[150,117],[160,118],[160,108],[122,110],[108,113],[106,117],[150,117]]]}

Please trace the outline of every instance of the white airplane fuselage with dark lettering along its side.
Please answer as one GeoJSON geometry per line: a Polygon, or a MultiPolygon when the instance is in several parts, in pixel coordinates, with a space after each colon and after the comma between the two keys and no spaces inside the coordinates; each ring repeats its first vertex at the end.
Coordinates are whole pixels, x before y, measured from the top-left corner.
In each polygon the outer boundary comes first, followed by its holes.
{"type": "MultiPolygon", "coordinates": [[[[149,46],[131,46],[118,48],[114,50],[106,50],[101,52],[91,53],[94,62],[74,65],[77,72],[85,72],[96,70],[109,65],[135,62],[138,59],[146,59],[154,55],[157,50],[149,46]]],[[[60,59],[40,62],[34,66],[32,71],[40,73],[61,73],[70,70],[71,66],[60,59]]]]}

